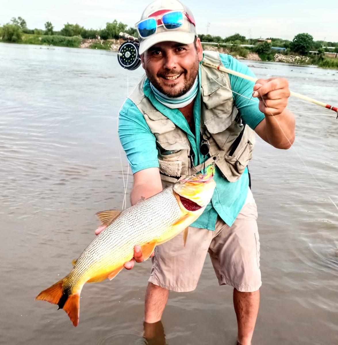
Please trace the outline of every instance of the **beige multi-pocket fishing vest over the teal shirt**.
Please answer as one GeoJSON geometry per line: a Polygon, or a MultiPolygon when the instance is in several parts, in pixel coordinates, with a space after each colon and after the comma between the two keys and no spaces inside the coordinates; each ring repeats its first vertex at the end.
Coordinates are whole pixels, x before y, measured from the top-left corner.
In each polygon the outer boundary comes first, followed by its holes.
{"type": "MultiPolygon", "coordinates": [[[[203,61],[222,66],[217,52],[205,51],[203,61]]],[[[145,96],[143,84],[146,79],[146,76],[141,79],[129,99],[139,109],[156,138],[160,176],[165,188],[180,178],[200,171],[203,164],[193,166],[186,133],[158,111],[145,96]]],[[[210,144],[210,158],[205,166],[215,162],[222,177],[230,182],[237,181],[252,157],[255,132],[246,126],[238,114],[228,73],[201,67],[200,111],[200,135],[210,144]]]]}

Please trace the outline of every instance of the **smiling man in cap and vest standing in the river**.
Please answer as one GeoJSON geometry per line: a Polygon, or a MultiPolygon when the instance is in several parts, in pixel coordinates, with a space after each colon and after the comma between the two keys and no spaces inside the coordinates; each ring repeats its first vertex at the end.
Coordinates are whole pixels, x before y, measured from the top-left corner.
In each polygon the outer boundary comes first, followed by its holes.
{"type": "MultiPolygon", "coordinates": [[[[156,247],[145,322],[160,321],[169,290],[196,288],[209,252],[219,284],[234,288],[238,343],[250,344],[261,278],[257,209],[247,163],[253,130],[277,148],[292,145],[295,119],[286,109],[288,82],[259,79],[254,85],[202,66],[200,62],[207,61],[253,76],[230,56],[203,53],[192,13],[179,1],[151,3],[137,28],[146,77],[124,103],[119,118],[119,136],[134,178],[131,204],[200,171],[203,161],[216,158],[217,166],[212,201],[190,226],[186,247],[182,234],[156,247]],[[258,98],[258,106],[248,100],[251,97],[258,98]]],[[[143,260],[139,246],[135,260],[143,260]]],[[[133,265],[134,259],[125,267],[133,265]]]]}

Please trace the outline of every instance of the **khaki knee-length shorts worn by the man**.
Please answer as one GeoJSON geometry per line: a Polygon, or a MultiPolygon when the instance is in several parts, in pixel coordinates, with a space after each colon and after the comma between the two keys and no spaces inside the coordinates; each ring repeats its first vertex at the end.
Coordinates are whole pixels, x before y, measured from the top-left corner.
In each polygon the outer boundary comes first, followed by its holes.
{"type": "Polygon", "coordinates": [[[183,292],[196,288],[209,253],[219,285],[253,292],[262,285],[259,269],[257,207],[251,190],[231,227],[217,218],[215,231],[189,227],[186,246],[183,231],[156,247],[149,282],[183,292]]]}

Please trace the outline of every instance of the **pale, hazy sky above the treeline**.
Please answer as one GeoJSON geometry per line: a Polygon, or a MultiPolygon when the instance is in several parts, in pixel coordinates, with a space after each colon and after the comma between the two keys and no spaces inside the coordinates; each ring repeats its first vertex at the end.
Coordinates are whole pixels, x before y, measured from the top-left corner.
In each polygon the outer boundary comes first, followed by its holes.
{"type": "MultiPolygon", "coordinates": [[[[54,30],[67,22],[99,29],[114,19],[134,26],[149,0],[0,0],[0,25],[21,16],[30,29],[54,30]]],[[[236,32],[249,38],[279,37],[292,40],[307,32],[314,40],[338,42],[336,0],[216,1],[182,0],[192,11],[198,33],[221,37],[236,32]],[[207,28],[210,23],[209,28],[207,28]],[[207,32],[208,31],[208,32],[207,32]]]]}

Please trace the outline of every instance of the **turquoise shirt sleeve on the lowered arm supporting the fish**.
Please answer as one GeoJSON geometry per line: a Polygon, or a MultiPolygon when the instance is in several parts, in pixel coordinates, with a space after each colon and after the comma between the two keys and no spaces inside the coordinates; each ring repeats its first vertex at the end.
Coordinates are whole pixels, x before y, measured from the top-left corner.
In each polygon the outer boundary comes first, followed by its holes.
{"type": "Polygon", "coordinates": [[[119,137],[133,174],[159,167],[155,136],[130,99],[125,101],[120,110],[119,137]]]}

